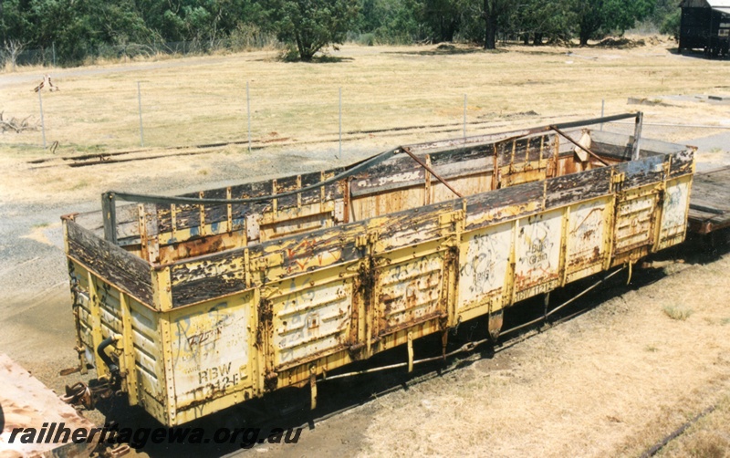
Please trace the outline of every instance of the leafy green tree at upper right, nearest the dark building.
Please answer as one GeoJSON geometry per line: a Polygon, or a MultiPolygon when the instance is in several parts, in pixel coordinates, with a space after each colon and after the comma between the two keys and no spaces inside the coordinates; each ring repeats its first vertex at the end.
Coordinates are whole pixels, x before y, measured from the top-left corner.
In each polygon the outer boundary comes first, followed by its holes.
{"type": "Polygon", "coordinates": [[[575,0],[580,46],[610,30],[623,32],[652,13],[656,0],[575,0]]]}

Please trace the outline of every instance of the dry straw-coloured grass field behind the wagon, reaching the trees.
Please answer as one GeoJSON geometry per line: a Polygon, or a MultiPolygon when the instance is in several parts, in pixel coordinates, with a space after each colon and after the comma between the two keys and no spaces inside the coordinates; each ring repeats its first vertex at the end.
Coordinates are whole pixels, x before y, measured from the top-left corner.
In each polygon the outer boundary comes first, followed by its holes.
{"type": "MultiPolygon", "coordinates": [[[[141,182],[154,181],[161,169],[179,180],[190,173],[203,178],[211,175],[207,177],[211,182],[224,180],[210,166],[221,155],[229,164],[250,164],[245,144],[246,81],[251,84],[254,146],[265,147],[254,152],[256,159],[270,158],[276,151],[297,151],[311,158],[328,151],[320,158],[327,161],[337,152],[339,88],[345,161],[397,143],[460,137],[464,94],[468,96],[467,134],[474,135],[597,117],[602,99],[606,113],[615,114],[640,108],[627,106],[629,97],[730,92],[727,61],[677,56],[668,50],[671,43],[651,42],[656,45],[506,47],[494,52],[470,47],[343,47],[331,53],[327,62],[316,64],[284,63],[269,51],[92,68],[21,68],[0,76],[0,111],[5,119],[33,116],[38,120],[33,88],[44,73],[50,73],[60,90],[43,92],[43,108],[47,144],[57,141],[57,148],[53,153],[39,148],[40,131],[5,132],[0,135],[0,161],[17,184],[44,182],[47,198],[66,202],[88,198],[110,184],[124,184],[112,167],[95,168],[92,173],[84,168],[35,169],[66,163],[59,157],[140,150],[138,81],[146,148],[123,157],[181,152],[165,150],[170,147],[185,147],[182,151],[189,152],[196,151],[190,148],[194,145],[243,142],[209,149],[214,154],[185,161],[121,166],[123,174],[131,172],[141,182]],[[355,133],[362,131],[369,132],[355,133]],[[27,165],[32,159],[53,161],[27,165]]],[[[641,109],[648,122],[730,127],[725,106],[678,100],[641,109]]],[[[711,133],[663,129],[661,136],[679,141],[711,133]]],[[[3,195],[33,197],[26,186],[5,187],[3,195]]]]}

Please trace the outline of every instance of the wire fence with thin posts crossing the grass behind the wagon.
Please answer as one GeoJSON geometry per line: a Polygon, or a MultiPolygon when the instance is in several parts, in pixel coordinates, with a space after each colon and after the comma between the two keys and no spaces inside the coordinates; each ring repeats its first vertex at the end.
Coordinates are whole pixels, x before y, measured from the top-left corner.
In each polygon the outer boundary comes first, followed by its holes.
{"type": "MultiPolygon", "coordinates": [[[[175,73],[171,75],[174,78],[175,73]]],[[[0,143],[54,152],[60,146],[59,151],[65,153],[99,154],[138,148],[225,145],[235,145],[237,151],[249,152],[275,146],[301,150],[310,144],[328,145],[325,148],[335,159],[347,159],[349,151],[365,148],[466,139],[490,132],[641,109],[625,103],[619,106],[615,100],[607,106],[598,100],[598,103],[590,104],[592,109],[587,107],[561,117],[544,116],[534,111],[490,114],[475,108],[475,105],[485,105],[476,95],[454,92],[430,99],[428,104],[423,103],[421,96],[401,97],[388,99],[388,104],[383,105],[379,99],[357,99],[350,92],[351,88],[337,87],[329,91],[328,97],[302,96],[302,99],[286,99],[284,105],[281,98],[266,97],[266,92],[271,90],[266,85],[251,84],[248,80],[230,87],[199,88],[193,83],[182,86],[180,81],[177,84],[167,87],[161,81],[141,80],[133,87],[84,88],[94,91],[91,105],[90,99],[77,98],[65,87],[54,92],[48,88],[41,88],[36,93],[28,90],[28,96],[14,109],[23,114],[23,119],[16,122],[25,122],[29,129],[18,133],[0,125],[0,130],[4,130],[0,143]],[[444,111],[447,106],[451,109],[444,111]],[[445,112],[448,116],[441,115],[445,112]]],[[[3,119],[0,113],[0,124],[11,121],[8,114],[3,119]]],[[[592,129],[631,135],[633,124],[612,122],[592,129]]],[[[718,132],[730,134],[730,126],[645,119],[643,135],[663,141],[688,141],[718,132]]]]}

